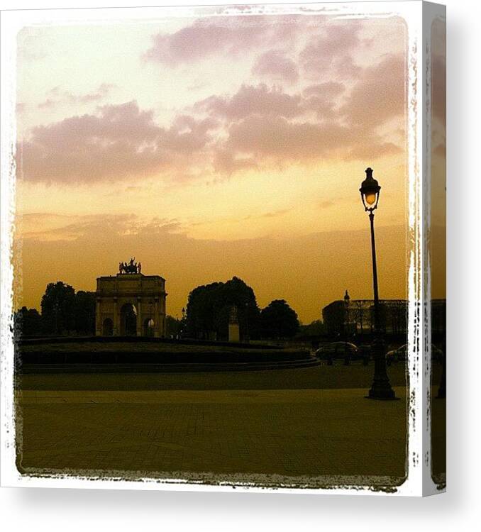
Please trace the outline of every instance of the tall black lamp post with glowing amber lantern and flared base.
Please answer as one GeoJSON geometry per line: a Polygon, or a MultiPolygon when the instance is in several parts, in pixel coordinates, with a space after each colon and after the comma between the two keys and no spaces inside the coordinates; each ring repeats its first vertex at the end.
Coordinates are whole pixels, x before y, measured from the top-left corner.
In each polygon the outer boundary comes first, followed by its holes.
{"type": "Polygon", "coordinates": [[[367,399],[396,399],[394,390],[387,377],[386,349],[384,338],[380,327],[380,306],[379,292],[377,290],[377,265],[376,265],[376,244],[374,238],[374,211],[377,209],[381,187],[372,177],[372,168],[366,169],[366,178],[359,189],[363,200],[364,210],[369,212],[371,226],[371,252],[372,252],[372,287],[374,289],[374,340],[371,350],[374,358],[374,380],[367,399]]]}

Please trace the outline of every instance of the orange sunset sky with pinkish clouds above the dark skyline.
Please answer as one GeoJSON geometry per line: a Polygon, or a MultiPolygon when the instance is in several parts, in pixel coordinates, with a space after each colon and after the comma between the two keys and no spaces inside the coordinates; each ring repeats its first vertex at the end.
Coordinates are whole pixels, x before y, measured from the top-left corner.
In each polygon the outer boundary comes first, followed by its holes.
{"type": "Polygon", "coordinates": [[[389,16],[23,28],[15,306],[135,256],[167,314],[237,275],[309,323],[372,297],[368,166],[380,297],[406,297],[406,48],[389,16]]]}

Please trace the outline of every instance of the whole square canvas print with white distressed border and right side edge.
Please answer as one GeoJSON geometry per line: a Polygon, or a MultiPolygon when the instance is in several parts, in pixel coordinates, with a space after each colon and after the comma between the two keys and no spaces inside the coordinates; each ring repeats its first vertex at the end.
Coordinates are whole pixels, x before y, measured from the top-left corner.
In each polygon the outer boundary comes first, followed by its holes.
{"type": "Polygon", "coordinates": [[[430,9],[15,19],[7,482],[422,494],[426,468],[443,490],[446,19],[430,9]]]}

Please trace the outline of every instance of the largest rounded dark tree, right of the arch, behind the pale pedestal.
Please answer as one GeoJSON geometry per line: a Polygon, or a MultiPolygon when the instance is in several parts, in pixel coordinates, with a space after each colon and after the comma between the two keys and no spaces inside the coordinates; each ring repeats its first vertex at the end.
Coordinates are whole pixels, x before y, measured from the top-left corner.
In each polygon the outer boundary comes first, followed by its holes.
{"type": "Polygon", "coordinates": [[[259,307],[253,289],[238,277],[192,290],[187,301],[187,335],[204,339],[228,338],[228,317],[232,306],[238,309],[241,338],[256,338],[259,307]]]}

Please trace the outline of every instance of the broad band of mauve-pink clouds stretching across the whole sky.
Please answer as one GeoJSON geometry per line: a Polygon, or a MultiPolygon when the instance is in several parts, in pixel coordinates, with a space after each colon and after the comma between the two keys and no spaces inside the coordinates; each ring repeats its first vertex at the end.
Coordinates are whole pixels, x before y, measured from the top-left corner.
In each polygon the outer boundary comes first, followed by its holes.
{"type": "MultiPolygon", "coordinates": [[[[341,33],[333,50],[348,39],[357,42],[356,33],[341,33]]],[[[363,68],[355,82],[321,80],[300,92],[242,84],[234,94],[197,101],[165,127],[157,124],[152,109],[140,109],[136,101],[97,106],[94,113],[32,128],[18,144],[18,175],[58,184],[153,176],[177,183],[218,182],[236,172],[291,162],[372,160],[399,153],[404,62],[404,55],[384,55],[363,68]]],[[[101,87],[82,99],[93,101],[94,94],[109,91],[101,87]]],[[[62,94],[54,87],[49,96],[62,94]]]]}

